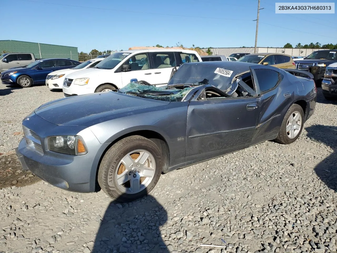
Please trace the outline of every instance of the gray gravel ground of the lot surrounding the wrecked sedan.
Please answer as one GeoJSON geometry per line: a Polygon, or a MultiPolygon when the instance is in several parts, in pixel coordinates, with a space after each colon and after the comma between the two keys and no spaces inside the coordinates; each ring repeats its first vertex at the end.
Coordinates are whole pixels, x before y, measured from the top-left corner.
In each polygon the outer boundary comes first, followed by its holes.
{"type": "Polygon", "coordinates": [[[12,150],[22,118],[62,93],[1,87],[0,252],[337,252],[337,103],[318,94],[295,143],[170,172],[121,204],[22,172],[12,150]]]}

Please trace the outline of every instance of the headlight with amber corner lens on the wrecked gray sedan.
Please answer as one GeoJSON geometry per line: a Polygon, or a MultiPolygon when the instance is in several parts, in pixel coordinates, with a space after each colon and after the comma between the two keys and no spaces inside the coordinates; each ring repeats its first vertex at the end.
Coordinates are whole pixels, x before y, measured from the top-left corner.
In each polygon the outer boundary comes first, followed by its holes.
{"type": "Polygon", "coordinates": [[[86,154],[87,146],[81,136],[78,135],[62,135],[52,136],[48,138],[48,149],[50,151],[64,154],[86,154]]]}

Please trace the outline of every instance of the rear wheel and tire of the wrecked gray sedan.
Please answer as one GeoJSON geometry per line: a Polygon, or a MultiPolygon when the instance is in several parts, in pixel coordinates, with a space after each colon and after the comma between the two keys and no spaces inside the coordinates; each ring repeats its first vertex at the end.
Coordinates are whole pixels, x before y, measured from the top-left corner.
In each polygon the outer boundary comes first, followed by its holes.
{"type": "Polygon", "coordinates": [[[304,113],[301,106],[293,104],[286,112],[278,136],[275,139],[281,144],[290,144],[298,139],[304,124],[304,113]]]}

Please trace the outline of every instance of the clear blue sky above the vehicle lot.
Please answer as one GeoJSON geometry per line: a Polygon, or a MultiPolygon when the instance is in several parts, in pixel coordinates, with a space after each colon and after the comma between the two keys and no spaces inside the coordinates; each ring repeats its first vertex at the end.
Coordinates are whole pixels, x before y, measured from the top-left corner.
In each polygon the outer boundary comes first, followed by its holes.
{"type": "MultiPolygon", "coordinates": [[[[337,43],[336,13],[275,14],[275,2],[281,1],[261,0],[258,47],[337,43]]],[[[1,0],[0,7],[6,10],[1,39],[74,46],[79,52],[255,43],[257,0],[1,0]]]]}

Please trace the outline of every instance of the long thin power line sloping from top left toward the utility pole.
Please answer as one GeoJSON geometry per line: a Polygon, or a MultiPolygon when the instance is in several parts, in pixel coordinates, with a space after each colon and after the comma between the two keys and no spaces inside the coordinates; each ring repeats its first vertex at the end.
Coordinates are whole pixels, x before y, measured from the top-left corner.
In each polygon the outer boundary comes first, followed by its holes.
{"type": "Polygon", "coordinates": [[[109,8],[99,8],[99,7],[88,7],[88,6],[80,6],[80,5],[72,5],[72,4],[49,3],[49,2],[41,2],[41,1],[33,1],[33,0],[18,0],[18,1],[32,2],[32,3],[54,4],[54,5],[61,5],[61,6],[80,7],[80,8],[89,8],[89,9],[97,9],[97,10],[113,10],[113,11],[123,11],[123,12],[132,12],[132,13],[142,13],[142,14],[162,15],[162,16],[174,16],[174,17],[186,17],[186,18],[200,18],[200,19],[218,19],[218,20],[250,21],[249,19],[227,19],[227,18],[216,18],[216,17],[186,16],[186,15],[165,14],[165,13],[145,12],[145,11],[136,11],[136,10],[121,10],[121,9],[109,9],[109,8]]]}

